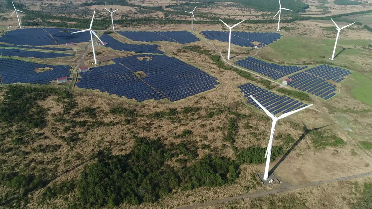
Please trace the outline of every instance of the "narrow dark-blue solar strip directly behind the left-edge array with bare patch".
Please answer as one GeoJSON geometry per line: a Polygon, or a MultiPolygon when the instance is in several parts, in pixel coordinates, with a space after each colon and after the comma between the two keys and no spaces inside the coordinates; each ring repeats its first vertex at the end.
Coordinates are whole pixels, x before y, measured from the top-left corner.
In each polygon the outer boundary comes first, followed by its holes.
{"type": "Polygon", "coordinates": [[[39,52],[39,51],[26,51],[23,49],[1,49],[0,55],[9,57],[35,57],[35,58],[57,58],[57,57],[69,57],[74,56],[73,54],[62,54],[55,52],[39,52]]]}

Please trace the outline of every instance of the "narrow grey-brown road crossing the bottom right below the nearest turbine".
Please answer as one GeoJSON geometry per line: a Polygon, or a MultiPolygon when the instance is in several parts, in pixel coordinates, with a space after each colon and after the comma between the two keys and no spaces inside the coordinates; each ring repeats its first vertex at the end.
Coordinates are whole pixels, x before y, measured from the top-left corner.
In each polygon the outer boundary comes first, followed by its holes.
{"type": "Polygon", "coordinates": [[[295,190],[295,189],[302,189],[302,188],[310,187],[310,186],[318,186],[320,184],[327,184],[327,183],[332,183],[332,182],[337,182],[337,181],[356,179],[356,178],[360,178],[360,177],[364,177],[364,176],[369,176],[371,174],[372,174],[372,171],[368,172],[368,173],[357,174],[357,175],[354,175],[354,176],[340,177],[340,178],[330,179],[330,180],[325,180],[325,181],[316,181],[316,182],[309,182],[309,183],[301,184],[301,185],[278,187],[278,188],[273,189],[273,190],[259,191],[259,192],[255,192],[255,193],[247,193],[247,194],[242,194],[242,195],[235,196],[235,197],[226,197],[224,199],[211,200],[211,201],[208,201],[208,202],[204,202],[204,203],[200,203],[200,204],[196,204],[196,205],[184,206],[184,207],[180,207],[180,208],[177,208],[177,209],[194,209],[194,208],[200,208],[200,207],[215,205],[215,204],[219,204],[219,203],[225,203],[225,202],[229,202],[229,201],[232,201],[232,200],[262,197],[262,196],[266,196],[266,195],[269,195],[269,194],[275,194],[275,193],[279,193],[279,192],[286,192],[286,191],[291,191],[291,190],[295,190]]]}

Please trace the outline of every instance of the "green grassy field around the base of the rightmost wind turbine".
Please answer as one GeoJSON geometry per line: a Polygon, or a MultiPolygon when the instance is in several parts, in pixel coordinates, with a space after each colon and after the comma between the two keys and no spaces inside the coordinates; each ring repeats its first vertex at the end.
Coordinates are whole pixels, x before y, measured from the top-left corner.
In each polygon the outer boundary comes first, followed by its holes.
{"type": "Polygon", "coordinates": [[[273,61],[285,64],[333,64],[357,70],[361,65],[353,59],[364,57],[362,47],[368,46],[367,40],[339,40],[334,61],[329,60],[333,52],[334,40],[321,40],[301,36],[283,37],[259,52],[262,58],[270,57],[273,61]]]}

